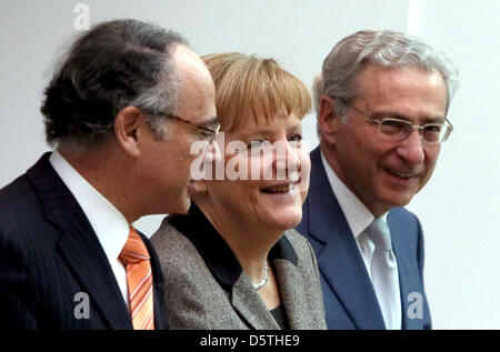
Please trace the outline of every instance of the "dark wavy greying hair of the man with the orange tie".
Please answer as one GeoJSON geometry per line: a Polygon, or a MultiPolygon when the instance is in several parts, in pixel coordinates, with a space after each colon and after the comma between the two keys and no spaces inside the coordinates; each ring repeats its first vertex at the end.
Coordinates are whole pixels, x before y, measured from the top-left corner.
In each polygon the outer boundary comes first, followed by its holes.
{"type": "Polygon", "coordinates": [[[158,137],[162,115],[174,111],[179,83],[170,49],[187,44],[179,33],[132,19],[102,22],[70,47],[44,90],[40,111],[46,138],[92,143],[113,131],[120,110],[134,105],[148,114],[158,137]]]}

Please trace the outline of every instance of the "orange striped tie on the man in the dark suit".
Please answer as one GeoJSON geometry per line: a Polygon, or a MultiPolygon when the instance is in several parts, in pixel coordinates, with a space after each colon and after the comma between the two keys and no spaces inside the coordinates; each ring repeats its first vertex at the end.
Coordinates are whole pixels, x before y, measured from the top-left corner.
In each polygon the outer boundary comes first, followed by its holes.
{"type": "Polygon", "coordinates": [[[127,266],[130,315],[134,330],[154,330],[152,273],[148,249],[136,229],[130,227],[119,259],[127,266]]]}

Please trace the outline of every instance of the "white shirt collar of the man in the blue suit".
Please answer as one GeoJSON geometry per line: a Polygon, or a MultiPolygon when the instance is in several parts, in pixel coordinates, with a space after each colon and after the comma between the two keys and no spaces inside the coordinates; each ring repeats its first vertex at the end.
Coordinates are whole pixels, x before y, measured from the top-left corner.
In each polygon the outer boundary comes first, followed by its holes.
{"type": "MultiPolygon", "coordinates": [[[[340,208],[346,215],[349,228],[356,239],[370,225],[374,217],[371,211],[347,188],[347,185],[339,179],[329,162],[321,152],[321,161],[323,162],[324,171],[331,189],[337,197],[340,208]]],[[[386,221],[387,213],[382,215],[386,221]]]]}

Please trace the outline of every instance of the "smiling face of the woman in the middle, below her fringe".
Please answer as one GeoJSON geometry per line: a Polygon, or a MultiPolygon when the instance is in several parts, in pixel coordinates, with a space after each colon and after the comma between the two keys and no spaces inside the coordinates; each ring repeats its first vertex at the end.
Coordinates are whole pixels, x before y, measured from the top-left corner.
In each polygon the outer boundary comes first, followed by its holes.
{"type": "Polygon", "coordinates": [[[241,168],[247,172],[233,181],[228,174],[222,181],[207,181],[212,209],[219,218],[243,230],[292,229],[302,218],[302,202],[309,185],[310,161],[300,144],[301,121],[293,113],[276,115],[264,123],[247,121],[224,133],[226,145],[241,141],[241,145],[244,143],[249,149],[226,155],[227,173],[232,169],[241,171],[241,168]],[[262,150],[264,143],[278,143],[282,148],[262,150]],[[293,179],[292,171],[300,171],[301,179],[293,179]]]}

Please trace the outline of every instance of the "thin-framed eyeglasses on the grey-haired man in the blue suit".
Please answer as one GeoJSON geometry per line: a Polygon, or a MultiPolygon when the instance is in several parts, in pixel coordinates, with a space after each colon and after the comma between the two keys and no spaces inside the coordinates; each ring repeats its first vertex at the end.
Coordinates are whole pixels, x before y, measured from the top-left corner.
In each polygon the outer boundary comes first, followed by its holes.
{"type": "Polygon", "coordinates": [[[453,125],[450,121],[446,119],[446,123],[427,123],[423,125],[413,124],[410,121],[396,119],[396,118],[382,118],[372,119],[367,113],[362,112],[353,104],[347,102],[346,99],[339,97],[331,97],[343,102],[346,105],[358,111],[368,122],[378,124],[378,132],[383,134],[391,140],[402,141],[413,131],[413,128],[419,130],[420,139],[422,142],[427,143],[442,143],[446,142],[448,137],[450,137],[451,131],[453,131],[453,125]]]}

